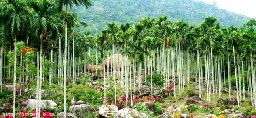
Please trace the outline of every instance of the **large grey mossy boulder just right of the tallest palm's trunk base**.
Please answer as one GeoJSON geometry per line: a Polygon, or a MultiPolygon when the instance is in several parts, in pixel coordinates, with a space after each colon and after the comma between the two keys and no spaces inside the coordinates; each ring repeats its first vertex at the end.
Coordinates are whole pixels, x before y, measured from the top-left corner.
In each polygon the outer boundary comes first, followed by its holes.
{"type": "Polygon", "coordinates": [[[95,114],[95,116],[98,116],[97,112],[93,107],[85,104],[73,105],[69,107],[68,112],[76,114],[77,117],[82,117],[82,118],[87,118],[89,113],[92,113],[92,114],[95,114]]]}

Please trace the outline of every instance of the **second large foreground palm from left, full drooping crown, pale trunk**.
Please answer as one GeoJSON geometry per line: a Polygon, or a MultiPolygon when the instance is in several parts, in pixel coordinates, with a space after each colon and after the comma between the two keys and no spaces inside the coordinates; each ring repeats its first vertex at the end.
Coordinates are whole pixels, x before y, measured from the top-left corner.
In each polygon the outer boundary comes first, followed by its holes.
{"type": "MultiPolygon", "coordinates": [[[[44,49],[48,49],[49,33],[53,30],[59,32],[61,24],[57,22],[56,18],[59,17],[59,12],[57,7],[54,6],[53,2],[42,0],[40,2],[30,0],[28,1],[28,6],[30,6],[35,15],[33,15],[33,26],[34,31],[38,33],[40,38],[40,75],[39,75],[39,96],[38,96],[38,111],[40,111],[41,104],[41,86],[42,86],[42,63],[43,63],[43,46],[44,49]],[[43,45],[44,44],[44,45],[43,45]]],[[[40,117],[40,114],[38,114],[40,117]]],[[[36,115],[37,117],[37,115],[36,115]]]]}

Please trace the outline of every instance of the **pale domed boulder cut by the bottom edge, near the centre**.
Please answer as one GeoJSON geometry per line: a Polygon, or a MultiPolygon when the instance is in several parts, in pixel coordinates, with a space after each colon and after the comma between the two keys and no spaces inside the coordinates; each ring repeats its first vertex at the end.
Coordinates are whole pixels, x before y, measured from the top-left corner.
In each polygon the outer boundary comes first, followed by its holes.
{"type": "Polygon", "coordinates": [[[149,118],[146,114],[140,113],[132,108],[119,110],[114,118],[149,118]]]}

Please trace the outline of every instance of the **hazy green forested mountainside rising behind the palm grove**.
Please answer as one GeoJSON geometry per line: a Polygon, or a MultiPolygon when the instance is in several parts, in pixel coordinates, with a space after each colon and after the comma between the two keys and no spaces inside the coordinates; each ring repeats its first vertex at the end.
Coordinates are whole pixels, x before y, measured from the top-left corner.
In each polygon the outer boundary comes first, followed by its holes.
{"type": "MultiPolygon", "coordinates": [[[[138,22],[143,17],[168,15],[173,21],[184,19],[192,25],[203,22],[209,15],[217,17],[222,26],[242,26],[249,17],[218,9],[195,0],[93,0],[93,6],[72,9],[88,23],[86,30],[99,33],[109,22],[138,22]]],[[[83,31],[84,29],[80,29],[83,31]]]]}

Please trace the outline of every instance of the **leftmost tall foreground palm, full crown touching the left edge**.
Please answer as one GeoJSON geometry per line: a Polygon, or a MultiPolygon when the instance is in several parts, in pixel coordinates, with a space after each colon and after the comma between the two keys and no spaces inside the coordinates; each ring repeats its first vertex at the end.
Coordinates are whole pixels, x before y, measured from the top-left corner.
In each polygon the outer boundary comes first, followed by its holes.
{"type": "MultiPolygon", "coordinates": [[[[0,16],[0,26],[4,26],[6,33],[10,33],[14,40],[14,69],[13,69],[13,114],[15,114],[15,100],[16,100],[16,42],[17,34],[21,31],[21,24],[23,22],[23,14],[26,12],[25,0],[2,0],[1,12],[4,15],[0,16]]],[[[15,116],[13,116],[14,118],[15,116]]]]}

